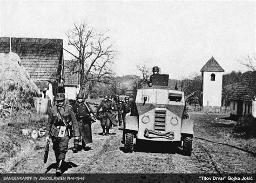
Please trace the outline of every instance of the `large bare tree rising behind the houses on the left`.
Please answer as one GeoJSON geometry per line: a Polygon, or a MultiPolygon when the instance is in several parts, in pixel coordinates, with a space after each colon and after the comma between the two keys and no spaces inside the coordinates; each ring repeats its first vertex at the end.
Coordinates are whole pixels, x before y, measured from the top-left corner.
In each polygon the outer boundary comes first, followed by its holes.
{"type": "Polygon", "coordinates": [[[116,51],[114,51],[107,31],[97,33],[86,22],[74,23],[73,29],[66,33],[68,45],[73,48],[69,51],[72,59],[73,73],[79,73],[80,92],[89,95],[95,83],[111,85],[114,73],[111,69],[116,51]]]}

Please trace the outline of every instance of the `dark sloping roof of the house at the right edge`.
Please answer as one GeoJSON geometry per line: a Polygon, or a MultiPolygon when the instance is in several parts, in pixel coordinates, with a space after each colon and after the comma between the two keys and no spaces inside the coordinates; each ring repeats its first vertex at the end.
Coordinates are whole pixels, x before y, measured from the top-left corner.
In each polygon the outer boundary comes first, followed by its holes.
{"type": "Polygon", "coordinates": [[[256,71],[245,74],[244,79],[239,82],[237,88],[228,97],[230,100],[241,100],[249,102],[256,95],[256,71]]]}

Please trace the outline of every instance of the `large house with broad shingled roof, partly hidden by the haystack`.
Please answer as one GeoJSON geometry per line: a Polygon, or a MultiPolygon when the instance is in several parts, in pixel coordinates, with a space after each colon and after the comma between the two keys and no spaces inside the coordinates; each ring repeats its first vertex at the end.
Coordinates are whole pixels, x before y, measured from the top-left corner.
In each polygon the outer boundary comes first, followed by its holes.
{"type": "Polygon", "coordinates": [[[50,98],[63,87],[63,40],[39,38],[0,38],[0,53],[15,52],[36,83],[41,97],[50,98]]]}

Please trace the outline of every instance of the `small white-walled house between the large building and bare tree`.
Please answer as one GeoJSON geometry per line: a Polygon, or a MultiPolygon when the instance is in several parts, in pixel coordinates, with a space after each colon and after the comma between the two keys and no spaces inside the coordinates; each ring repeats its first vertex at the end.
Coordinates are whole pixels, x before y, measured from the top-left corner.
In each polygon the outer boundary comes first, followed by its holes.
{"type": "Polygon", "coordinates": [[[65,97],[71,100],[76,100],[76,96],[79,93],[79,73],[75,73],[74,64],[72,60],[64,60],[64,87],[65,97]]]}

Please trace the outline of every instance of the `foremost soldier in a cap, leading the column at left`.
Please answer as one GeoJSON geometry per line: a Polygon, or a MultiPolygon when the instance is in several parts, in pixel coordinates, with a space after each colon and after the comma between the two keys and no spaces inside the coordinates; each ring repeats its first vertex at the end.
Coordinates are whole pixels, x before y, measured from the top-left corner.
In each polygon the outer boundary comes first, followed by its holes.
{"type": "Polygon", "coordinates": [[[71,105],[65,104],[65,95],[57,94],[57,105],[50,108],[48,124],[46,125],[46,140],[52,140],[52,149],[57,161],[56,175],[62,174],[62,164],[68,152],[69,132],[66,128],[72,121],[75,139],[79,138],[78,123],[71,105]]]}

